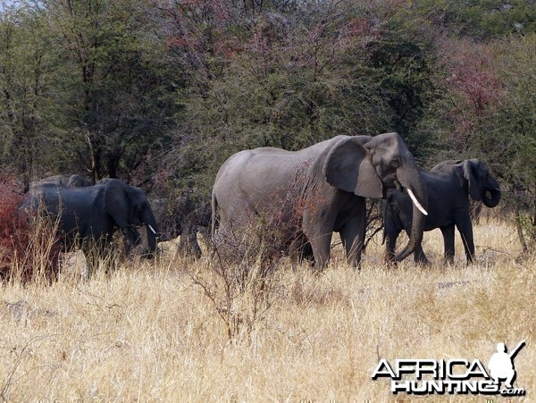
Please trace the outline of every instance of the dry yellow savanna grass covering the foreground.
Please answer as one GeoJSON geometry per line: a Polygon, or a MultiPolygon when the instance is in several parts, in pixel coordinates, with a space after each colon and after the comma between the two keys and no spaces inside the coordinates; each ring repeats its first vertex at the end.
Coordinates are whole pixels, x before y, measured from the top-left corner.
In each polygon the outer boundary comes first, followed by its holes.
{"type": "Polygon", "coordinates": [[[379,241],[356,272],[335,248],[321,275],[282,264],[264,298],[258,287],[233,294],[207,257],[190,262],[172,248],[91,280],[12,281],[0,297],[0,398],[406,401],[371,379],[380,358],[487,365],[498,341],[513,348],[524,339],[515,385],[530,401],[536,260],[515,259],[515,228],[497,219],[477,225],[475,239],[469,267],[459,239],[456,264],[440,264],[440,231],[425,234],[430,268],[412,258],[382,266],[379,241]]]}

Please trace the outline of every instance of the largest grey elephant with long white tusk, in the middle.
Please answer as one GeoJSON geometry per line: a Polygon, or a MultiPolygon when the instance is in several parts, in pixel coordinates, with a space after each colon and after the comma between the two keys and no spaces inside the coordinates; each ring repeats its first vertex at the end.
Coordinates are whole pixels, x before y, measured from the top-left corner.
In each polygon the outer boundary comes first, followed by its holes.
{"type": "Polygon", "coordinates": [[[385,197],[390,187],[408,189],[415,200],[414,231],[396,256],[402,260],[423,239],[428,194],[397,133],[337,136],[295,152],[261,147],[231,155],[214,182],[212,233],[230,234],[270,220],[290,231],[285,235],[289,248],[309,248],[315,266],[322,268],[337,231],[348,263],[359,266],[365,197],[385,197]]]}

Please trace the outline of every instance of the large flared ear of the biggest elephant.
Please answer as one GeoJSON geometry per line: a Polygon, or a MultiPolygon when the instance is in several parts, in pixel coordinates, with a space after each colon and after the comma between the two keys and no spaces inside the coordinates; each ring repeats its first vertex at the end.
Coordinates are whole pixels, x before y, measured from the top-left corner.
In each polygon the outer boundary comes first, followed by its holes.
{"type": "Polygon", "coordinates": [[[361,197],[383,197],[383,185],[364,144],[370,136],[341,139],[331,147],[324,175],[331,186],[361,197]]]}

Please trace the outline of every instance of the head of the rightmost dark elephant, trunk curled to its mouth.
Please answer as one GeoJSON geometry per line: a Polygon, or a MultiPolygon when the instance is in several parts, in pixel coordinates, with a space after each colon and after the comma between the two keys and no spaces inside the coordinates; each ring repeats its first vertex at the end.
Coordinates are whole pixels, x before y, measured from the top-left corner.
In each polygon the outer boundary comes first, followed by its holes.
{"type": "Polygon", "coordinates": [[[481,201],[488,207],[495,207],[500,201],[498,181],[491,176],[486,164],[478,159],[465,160],[463,177],[469,187],[469,196],[475,201],[481,201]]]}

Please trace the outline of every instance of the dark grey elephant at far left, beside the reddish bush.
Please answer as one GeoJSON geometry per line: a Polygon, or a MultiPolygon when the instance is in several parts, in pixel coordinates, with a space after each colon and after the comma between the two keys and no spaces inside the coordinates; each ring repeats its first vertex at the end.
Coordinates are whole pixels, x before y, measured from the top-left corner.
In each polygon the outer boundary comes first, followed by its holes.
{"type": "Polygon", "coordinates": [[[137,228],[147,226],[148,252],[156,251],[155,216],[142,189],[119,180],[108,180],[84,188],[64,188],[44,183],[30,189],[23,207],[35,210],[40,203],[53,217],[60,215],[59,235],[66,248],[80,242],[84,252],[103,251],[118,227],[125,236],[125,250],[138,243],[137,228]]]}

